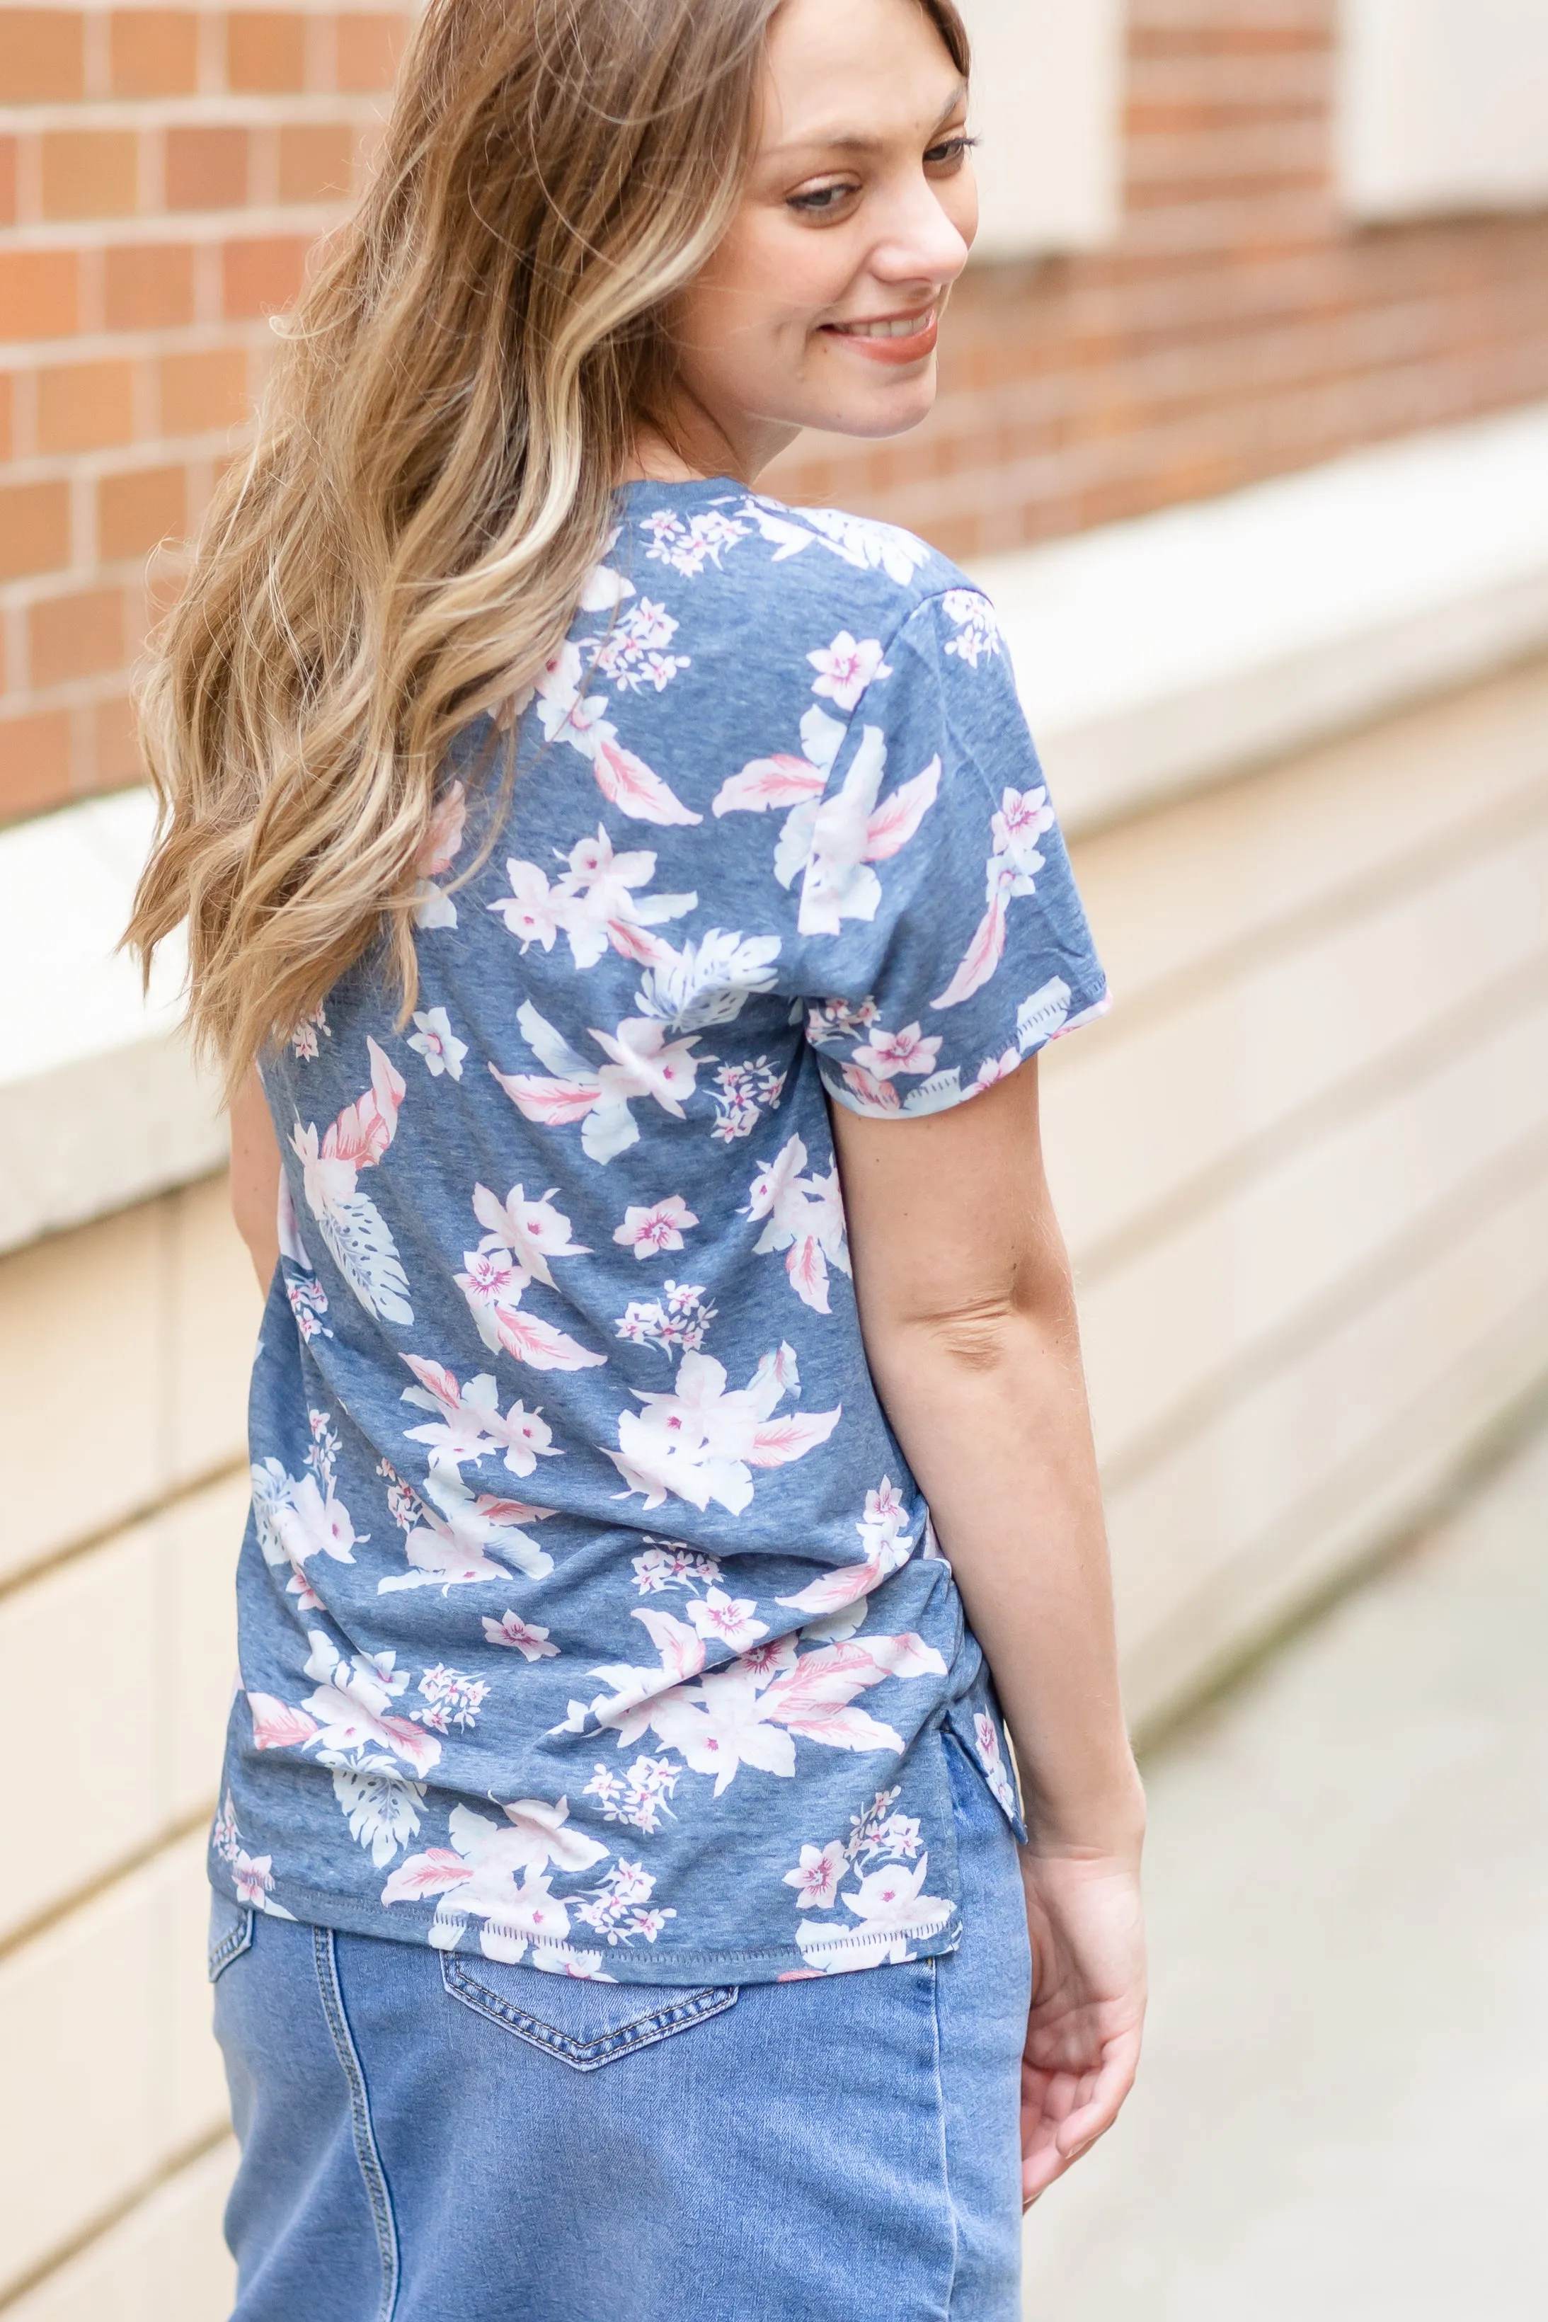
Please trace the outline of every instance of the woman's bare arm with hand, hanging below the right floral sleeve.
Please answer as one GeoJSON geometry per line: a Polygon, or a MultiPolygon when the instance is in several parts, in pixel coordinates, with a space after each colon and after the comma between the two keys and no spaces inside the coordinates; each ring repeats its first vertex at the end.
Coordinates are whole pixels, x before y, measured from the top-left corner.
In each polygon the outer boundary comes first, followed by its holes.
{"type": "Polygon", "coordinates": [[[833,1108],[833,1133],[866,1356],[993,1670],[1026,1790],[1033,2199],[1116,2118],[1144,2018],[1144,1802],[1119,1704],[1037,1066],[912,1122],[833,1108]]]}

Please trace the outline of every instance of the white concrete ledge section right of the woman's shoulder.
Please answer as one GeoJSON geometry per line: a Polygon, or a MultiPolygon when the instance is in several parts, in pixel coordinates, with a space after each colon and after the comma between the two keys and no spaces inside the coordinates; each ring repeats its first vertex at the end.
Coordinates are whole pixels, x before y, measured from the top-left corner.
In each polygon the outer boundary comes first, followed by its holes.
{"type": "Polygon", "coordinates": [[[975,578],[1079,836],[1546,648],[1548,404],[975,578]]]}

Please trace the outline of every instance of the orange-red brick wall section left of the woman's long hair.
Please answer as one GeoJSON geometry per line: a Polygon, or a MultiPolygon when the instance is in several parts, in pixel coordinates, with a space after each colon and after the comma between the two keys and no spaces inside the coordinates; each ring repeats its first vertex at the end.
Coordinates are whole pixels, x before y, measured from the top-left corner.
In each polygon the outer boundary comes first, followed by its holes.
{"type": "Polygon", "coordinates": [[[0,7],[0,815],[135,780],[146,555],[197,522],[399,28],[0,7]]]}

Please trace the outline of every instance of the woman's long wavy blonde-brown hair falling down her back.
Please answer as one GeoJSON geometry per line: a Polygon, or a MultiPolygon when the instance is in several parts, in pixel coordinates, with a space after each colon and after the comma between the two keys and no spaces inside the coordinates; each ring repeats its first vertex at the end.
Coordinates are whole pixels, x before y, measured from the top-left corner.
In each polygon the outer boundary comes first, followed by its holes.
{"type": "MultiPolygon", "coordinates": [[[[780,0],[432,0],[142,687],[158,843],[227,1089],[374,945],[404,1015],[453,734],[559,648],[671,302],[740,200],[780,0]]],[[[959,70],[954,0],[921,0],[959,70]]],[[[506,769],[506,783],[508,783],[506,769]]],[[[501,785],[504,796],[504,785],[501,785]]]]}

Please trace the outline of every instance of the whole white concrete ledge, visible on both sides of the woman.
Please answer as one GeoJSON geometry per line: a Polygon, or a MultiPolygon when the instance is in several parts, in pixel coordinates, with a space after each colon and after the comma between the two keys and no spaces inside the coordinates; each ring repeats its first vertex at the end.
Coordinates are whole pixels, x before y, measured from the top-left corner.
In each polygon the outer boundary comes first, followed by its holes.
{"type": "MultiPolygon", "coordinates": [[[[1065,827],[1093,831],[1548,648],[1548,404],[979,567],[1065,827]]],[[[220,1166],[114,945],[144,792],[0,831],[0,1252],[220,1166]]],[[[167,945],[167,954],[174,945],[167,945]]]]}

